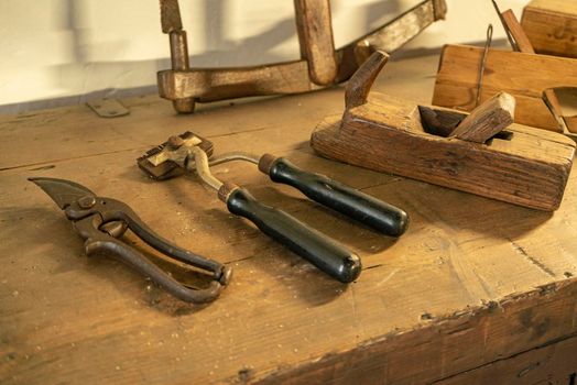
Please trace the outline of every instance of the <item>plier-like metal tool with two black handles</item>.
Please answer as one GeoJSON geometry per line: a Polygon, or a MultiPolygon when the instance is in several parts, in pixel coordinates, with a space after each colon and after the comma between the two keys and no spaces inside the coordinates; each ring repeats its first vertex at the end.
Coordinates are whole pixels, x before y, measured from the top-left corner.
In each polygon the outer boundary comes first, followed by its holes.
{"type": "Polygon", "coordinates": [[[230,212],[249,219],[263,233],[342,283],[350,283],[359,276],[361,261],[358,255],[286,212],[259,202],[247,189],[220,182],[210,173],[209,166],[247,161],[257,164],[273,182],[291,185],[311,199],[382,233],[400,237],[406,229],[409,218],[403,210],[324,175],[304,172],[283,157],[270,154],[259,157],[237,152],[222,154],[209,162],[211,151],[210,142],[185,132],[152,148],[137,162],[150,177],[159,180],[186,169],[195,170],[204,183],[218,191],[218,198],[230,212]]]}

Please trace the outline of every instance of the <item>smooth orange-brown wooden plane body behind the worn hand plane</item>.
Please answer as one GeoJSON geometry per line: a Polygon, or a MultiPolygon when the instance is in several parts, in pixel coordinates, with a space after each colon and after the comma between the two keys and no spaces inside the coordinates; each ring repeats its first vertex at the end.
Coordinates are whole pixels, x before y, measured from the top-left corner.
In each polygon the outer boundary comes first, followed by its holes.
{"type": "MultiPolygon", "coordinates": [[[[433,105],[462,111],[475,108],[482,52],[466,45],[443,48],[433,105]]],[[[481,101],[499,91],[511,94],[516,100],[516,123],[559,131],[543,101],[543,91],[557,87],[577,87],[577,61],[489,50],[481,101]]]]}

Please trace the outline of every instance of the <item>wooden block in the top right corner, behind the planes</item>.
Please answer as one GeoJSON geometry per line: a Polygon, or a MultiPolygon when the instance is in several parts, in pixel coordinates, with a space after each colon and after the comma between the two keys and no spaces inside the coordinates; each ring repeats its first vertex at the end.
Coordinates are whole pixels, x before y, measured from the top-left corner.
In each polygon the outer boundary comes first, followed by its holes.
{"type": "Polygon", "coordinates": [[[521,25],[536,53],[577,57],[577,2],[533,0],[523,10],[521,25]]]}

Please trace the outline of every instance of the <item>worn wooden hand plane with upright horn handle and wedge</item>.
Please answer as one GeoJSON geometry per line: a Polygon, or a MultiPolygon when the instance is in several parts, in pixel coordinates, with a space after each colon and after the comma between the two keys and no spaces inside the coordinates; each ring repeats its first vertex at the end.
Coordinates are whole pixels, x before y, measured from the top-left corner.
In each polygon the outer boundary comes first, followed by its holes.
{"type": "Polygon", "coordinates": [[[515,100],[504,92],[470,114],[369,94],[387,57],[375,52],[349,80],[341,119],[313,132],[316,152],[530,208],[559,206],[574,141],[512,123],[515,100]]]}

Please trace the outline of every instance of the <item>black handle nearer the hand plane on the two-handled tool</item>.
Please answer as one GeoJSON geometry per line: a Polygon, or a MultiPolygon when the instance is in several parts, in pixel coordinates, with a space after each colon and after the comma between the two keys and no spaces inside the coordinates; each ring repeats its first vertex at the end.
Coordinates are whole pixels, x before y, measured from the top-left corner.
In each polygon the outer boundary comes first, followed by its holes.
{"type": "Polygon", "coordinates": [[[259,169],[273,182],[291,185],[308,198],[387,235],[400,237],[409,224],[409,216],[400,208],[325,175],[302,170],[283,157],[266,154],[262,156],[259,169]]]}

